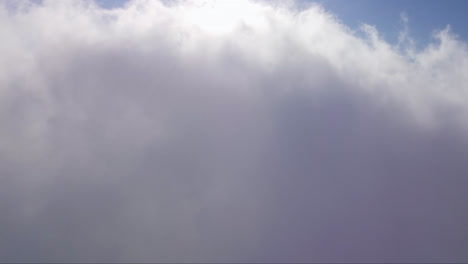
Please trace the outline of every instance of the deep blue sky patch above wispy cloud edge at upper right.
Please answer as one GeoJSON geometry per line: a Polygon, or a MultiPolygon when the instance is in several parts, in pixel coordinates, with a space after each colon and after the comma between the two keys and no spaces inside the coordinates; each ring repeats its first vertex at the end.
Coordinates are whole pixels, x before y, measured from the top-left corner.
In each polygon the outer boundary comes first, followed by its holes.
{"type": "Polygon", "coordinates": [[[409,18],[409,30],[420,45],[429,41],[434,30],[450,25],[462,39],[468,38],[466,30],[468,1],[463,0],[319,0],[325,8],[338,15],[352,28],[360,23],[375,25],[385,39],[394,42],[402,28],[400,14],[409,18]]]}

